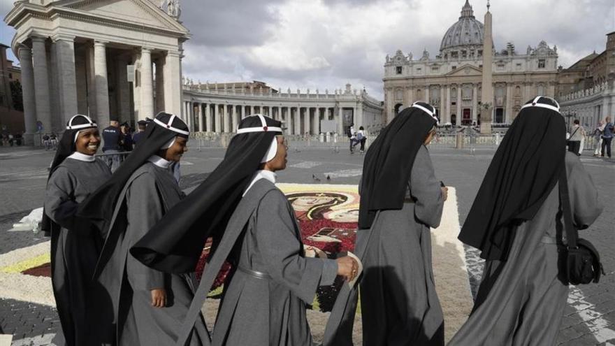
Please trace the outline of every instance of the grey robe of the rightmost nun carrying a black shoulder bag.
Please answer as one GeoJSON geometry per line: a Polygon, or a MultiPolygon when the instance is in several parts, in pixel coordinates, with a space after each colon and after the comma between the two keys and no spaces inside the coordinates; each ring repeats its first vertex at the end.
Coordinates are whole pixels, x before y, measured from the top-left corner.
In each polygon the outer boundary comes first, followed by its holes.
{"type": "MultiPolygon", "coordinates": [[[[588,226],[602,212],[598,192],[572,152],[566,171],[574,224],[588,226]]],[[[556,185],[535,217],[516,230],[507,261],[486,262],[481,284],[491,290],[449,345],[555,345],[568,296],[558,271],[559,210],[556,185]]]]}

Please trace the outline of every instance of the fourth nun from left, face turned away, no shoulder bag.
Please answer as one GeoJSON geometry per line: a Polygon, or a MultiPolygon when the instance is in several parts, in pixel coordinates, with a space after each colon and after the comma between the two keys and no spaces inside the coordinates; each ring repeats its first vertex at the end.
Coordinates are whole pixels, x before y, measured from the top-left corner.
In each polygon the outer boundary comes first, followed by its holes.
{"type": "MultiPolygon", "coordinates": [[[[426,148],[437,118],[416,102],[370,146],[359,184],[355,254],[363,345],[444,345],[444,317],[433,281],[430,227],[440,225],[447,189],[426,148]]],[[[352,345],[357,291],[342,287],[323,345],[352,345]]]]}

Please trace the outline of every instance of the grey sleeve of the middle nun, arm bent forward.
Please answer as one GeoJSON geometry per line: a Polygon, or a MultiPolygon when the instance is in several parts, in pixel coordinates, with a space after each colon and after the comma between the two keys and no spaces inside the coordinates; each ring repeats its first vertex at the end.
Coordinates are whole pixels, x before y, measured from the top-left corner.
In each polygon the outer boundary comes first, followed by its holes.
{"type": "Polygon", "coordinates": [[[256,242],[273,280],[311,304],[319,285],[333,283],[337,263],[330,259],[303,257],[303,244],[298,239],[289,209],[282,192],[268,192],[256,214],[256,242]]]}

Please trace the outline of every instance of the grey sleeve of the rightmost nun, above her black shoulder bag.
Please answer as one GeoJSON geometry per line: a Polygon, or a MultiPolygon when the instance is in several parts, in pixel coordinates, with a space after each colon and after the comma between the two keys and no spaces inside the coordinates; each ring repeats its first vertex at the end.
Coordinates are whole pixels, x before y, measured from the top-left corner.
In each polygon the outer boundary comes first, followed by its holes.
{"type": "Polygon", "coordinates": [[[574,225],[586,229],[602,212],[598,190],[579,157],[572,152],[566,152],[566,171],[574,225]]]}

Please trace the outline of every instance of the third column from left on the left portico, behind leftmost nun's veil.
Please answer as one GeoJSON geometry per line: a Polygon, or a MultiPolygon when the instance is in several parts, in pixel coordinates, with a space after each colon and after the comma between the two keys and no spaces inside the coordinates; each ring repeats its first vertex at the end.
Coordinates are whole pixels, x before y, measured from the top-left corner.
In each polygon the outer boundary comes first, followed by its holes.
{"type": "Polygon", "coordinates": [[[57,36],[54,38],[57,54],[60,120],[66,123],[78,113],[77,82],[75,79],[75,38],[57,36]]]}

